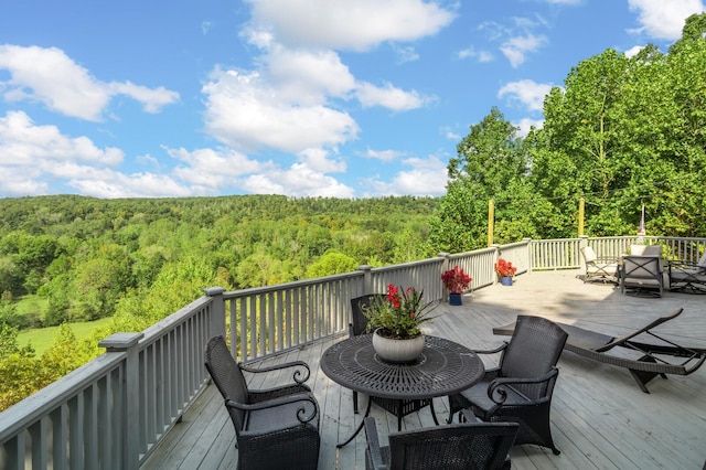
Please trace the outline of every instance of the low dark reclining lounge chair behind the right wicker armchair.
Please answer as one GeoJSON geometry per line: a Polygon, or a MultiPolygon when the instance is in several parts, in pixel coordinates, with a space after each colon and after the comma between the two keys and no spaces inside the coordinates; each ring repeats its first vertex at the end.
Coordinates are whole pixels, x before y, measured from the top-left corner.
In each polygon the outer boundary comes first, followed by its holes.
{"type": "MultiPolygon", "coordinates": [[[[610,337],[584,328],[557,323],[568,334],[565,350],[580,354],[593,361],[602,362],[630,371],[642,392],[650,393],[646,384],[657,375],[666,378],[666,374],[688,375],[695,372],[706,361],[706,350],[697,348],[681,346],[673,341],[666,340],[652,330],[660,324],[670,321],[682,313],[678,309],[666,317],[661,317],[650,322],[644,328],[623,337],[610,337]],[[659,343],[643,343],[637,341],[640,334],[646,334],[659,340],[659,343]],[[625,354],[618,356],[611,352],[631,352],[635,359],[625,357],[625,354]],[[664,356],[673,360],[666,361],[664,356]]],[[[515,323],[493,329],[494,334],[509,335],[515,329],[515,323]]]]}

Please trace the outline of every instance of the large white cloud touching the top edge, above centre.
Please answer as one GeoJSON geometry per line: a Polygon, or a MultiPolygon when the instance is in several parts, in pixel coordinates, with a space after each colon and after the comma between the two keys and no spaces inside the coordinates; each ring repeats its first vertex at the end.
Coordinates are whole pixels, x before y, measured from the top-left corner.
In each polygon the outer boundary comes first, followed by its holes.
{"type": "Polygon", "coordinates": [[[456,17],[421,0],[246,1],[253,7],[248,35],[259,44],[263,34],[272,34],[290,45],[366,51],[436,34],[456,17]]]}

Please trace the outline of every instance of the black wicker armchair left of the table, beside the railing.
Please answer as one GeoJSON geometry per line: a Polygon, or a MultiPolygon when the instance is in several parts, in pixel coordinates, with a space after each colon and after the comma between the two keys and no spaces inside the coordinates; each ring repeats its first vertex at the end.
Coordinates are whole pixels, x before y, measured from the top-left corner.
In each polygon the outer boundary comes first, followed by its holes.
{"type": "Polygon", "coordinates": [[[310,388],[309,366],[302,361],[250,368],[236,363],[223,337],[206,344],[206,370],[225,398],[238,449],[238,469],[315,469],[319,463],[319,405],[310,388]],[[250,391],[248,373],[292,368],[293,383],[250,391]]]}

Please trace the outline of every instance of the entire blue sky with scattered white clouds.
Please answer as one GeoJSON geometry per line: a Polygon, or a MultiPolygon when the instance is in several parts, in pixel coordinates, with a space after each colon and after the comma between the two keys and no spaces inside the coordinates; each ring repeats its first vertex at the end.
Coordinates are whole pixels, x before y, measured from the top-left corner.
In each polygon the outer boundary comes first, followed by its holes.
{"type": "Polygon", "coordinates": [[[442,195],[496,106],[663,52],[702,0],[0,3],[0,197],[442,195]]]}

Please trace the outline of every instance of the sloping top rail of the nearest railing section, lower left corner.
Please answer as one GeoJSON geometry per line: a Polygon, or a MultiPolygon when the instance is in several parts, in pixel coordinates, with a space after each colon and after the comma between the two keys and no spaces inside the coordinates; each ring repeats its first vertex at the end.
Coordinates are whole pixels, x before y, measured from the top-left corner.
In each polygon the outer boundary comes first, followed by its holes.
{"type": "Polygon", "coordinates": [[[56,382],[0,413],[0,442],[17,436],[32,423],[66,402],[118,366],[124,354],[103,354],[69,372],[56,382]]]}

